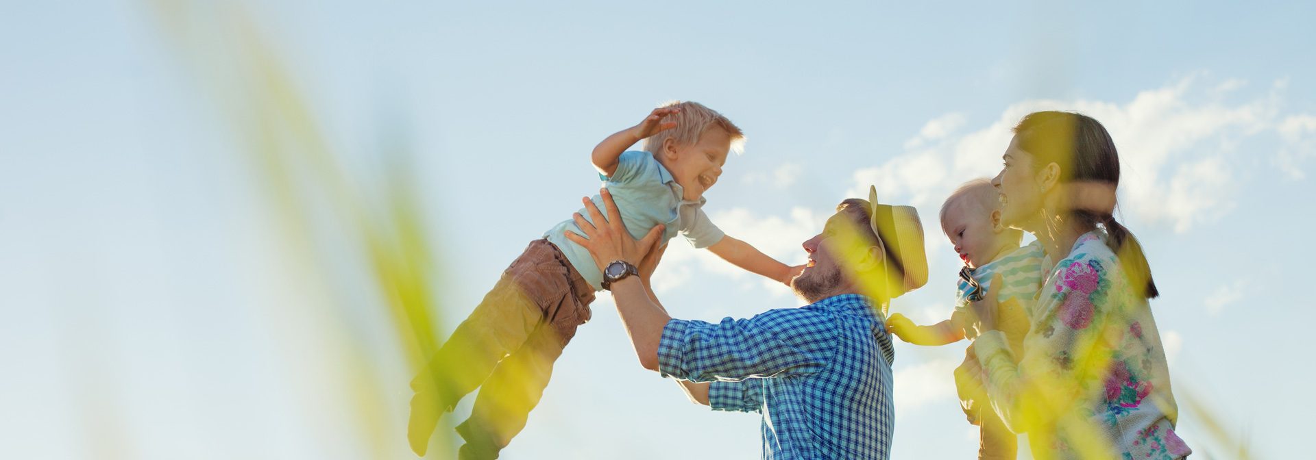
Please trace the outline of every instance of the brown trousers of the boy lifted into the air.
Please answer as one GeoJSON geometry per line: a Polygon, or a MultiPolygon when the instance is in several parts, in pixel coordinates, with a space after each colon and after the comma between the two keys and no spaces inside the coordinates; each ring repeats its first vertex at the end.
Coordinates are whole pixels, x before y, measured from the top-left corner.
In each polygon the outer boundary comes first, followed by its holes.
{"type": "Polygon", "coordinates": [[[525,427],[553,363],[590,321],[592,301],[594,288],[562,251],[537,239],[457,326],[412,389],[436,392],[442,414],[480,388],[471,417],[457,427],[466,440],[461,459],[496,459],[525,427]]]}

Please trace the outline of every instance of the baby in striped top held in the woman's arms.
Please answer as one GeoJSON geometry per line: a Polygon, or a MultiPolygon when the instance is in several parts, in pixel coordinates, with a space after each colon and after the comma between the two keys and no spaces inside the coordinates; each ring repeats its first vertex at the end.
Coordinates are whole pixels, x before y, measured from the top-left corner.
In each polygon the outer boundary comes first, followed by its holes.
{"type": "MultiPolygon", "coordinates": [[[[1028,334],[1028,318],[1020,310],[1021,305],[1033,305],[1033,297],[1042,285],[1042,247],[1032,244],[1019,247],[1023,231],[1000,225],[998,193],[986,179],[971,180],[959,187],[941,205],[941,229],[955,246],[955,252],[965,262],[959,271],[955,310],[950,319],[932,326],[916,326],[909,318],[896,313],[887,321],[887,327],[901,340],[921,346],[941,346],[959,342],[966,336],[973,339],[969,327],[969,302],[982,300],[991,284],[992,275],[1001,273],[1004,285],[1000,290],[1000,308],[1012,309],[1015,314],[1001,314],[1000,330],[1005,333],[1016,356],[1021,355],[1024,335],[1028,334]]],[[[957,386],[961,382],[957,380],[957,386]]],[[[961,389],[961,394],[966,389],[961,389]]],[[[1017,436],[991,410],[986,396],[978,396],[976,407],[970,409],[971,422],[980,426],[979,459],[1015,459],[1017,436]],[[986,407],[986,409],[983,409],[986,407]]]]}

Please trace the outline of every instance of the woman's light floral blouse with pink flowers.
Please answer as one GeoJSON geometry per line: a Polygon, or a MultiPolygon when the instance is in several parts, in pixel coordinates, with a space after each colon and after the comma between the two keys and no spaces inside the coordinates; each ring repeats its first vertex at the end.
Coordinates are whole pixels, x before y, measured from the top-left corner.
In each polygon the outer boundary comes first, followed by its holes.
{"type": "MultiPolygon", "coordinates": [[[[1109,359],[1105,372],[1086,373],[1080,382],[1091,394],[1084,402],[1086,414],[1101,419],[1112,434],[1120,434],[1112,440],[1119,443],[1123,459],[1180,459],[1191,448],[1174,432],[1174,423],[1158,405],[1150,403],[1157,397],[1173,398],[1159,343],[1146,342],[1146,334],[1155,336],[1155,326],[1149,322],[1150,306],[1126,292],[1119,267],[1119,259],[1099,234],[1080,237],[1070,258],[1051,272],[1048,283],[1054,290],[1046,290],[1051,294],[1040,296],[1037,323],[1025,340],[1029,344],[1025,348],[1033,348],[1024,352],[1020,365],[1036,365],[1029,373],[1073,379],[1078,375],[1071,372],[1082,368],[1074,363],[1101,352],[1101,359],[1109,359]],[[1144,330],[1144,321],[1153,330],[1144,330]],[[1103,350],[1074,348],[1091,340],[1103,350]],[[1133,427],[1137,430],[1124,431],[1133,427]]],[[[1063,438],[1051,440],[1058,456],[1066,452],[1063,438]]]]}

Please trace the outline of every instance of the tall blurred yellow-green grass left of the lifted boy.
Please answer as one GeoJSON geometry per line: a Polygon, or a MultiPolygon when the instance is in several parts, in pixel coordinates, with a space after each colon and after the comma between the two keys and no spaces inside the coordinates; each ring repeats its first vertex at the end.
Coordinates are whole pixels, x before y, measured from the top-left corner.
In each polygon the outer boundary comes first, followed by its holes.
{"type": "MultiPolygon", "coordinates": [[[[433,280],[429,263],[429,244],[421,227],[421,212],[417,206],[415,189],[403,175],[404,171],[390,171],[393,180],[382,212],[372,213],[366,205],[365,195],[353,185],[349,175],[340,167],[337,155],[317,127],[313,113],[301,97],[301,92],[275,58],[267,39],[240,5],[225,5],[225,13],[213,24],[190,21],[192,14],[205,9],[199,3],[154,0],[150,5],[159,13],[159,24],[170,42],[180,43],[182,51],[190,58],[201,57],[203,62],[215,68],[230,68],[215,81],[215,93],[240,95],[240,100],[221,100],[238,131],[247,134],[253,163],[262,183],[271,193],[279,209],[279,216],[287,229],[290,247],[297,248],[307,263],[307,269],[317,272],[312,279],[322,280],[321,288],[338,290],[337,300],[329,308],[337,308],[332,314],[334,330],[341,347],[325,352],[337,355],[345,376],[336,379],[349,382],[354,394],[353,406],[361,417],[361,434],[370,439],[376,456],[388,456],[396,451],[392,446],[404,446],[401,430],[383,432],[379,427],[393,426],[384,417],[388,411],[388,398],[396,384],[383,384],[375,360],[367,359],[359,334],[353,334],[350,319],[353,309],[346,305],[350,298],[325,265],[334,263],[330,252],[341,248],[316,246],[313,235],[325,230],[354,235],[357,250],[370,260],[367,272],[374,275],[375,284],[387,297],[388,317],[392,318],[393,336],[404,354],[404,361],[412,369],[424,364],[434,348],[433,319],[436,309],[429,283],[433,280]],[[197,29],[213,29],[225,35],[224,49],[208,49],[197,29]],[[234,33],[236,32],[236,33],[234,33]],[[233,62],[222,60],[232,57],[233,62]],[[325,217],[313,213],[317,206],[326,208],[330,227],[317,227],[325,217]],[[318,218],[318,219],[317,219],[318,218]],[[336,333],[337,331],[337,333],[336,333]]],[[[438,438],[450,439],[447,430],[438,438]]]]}

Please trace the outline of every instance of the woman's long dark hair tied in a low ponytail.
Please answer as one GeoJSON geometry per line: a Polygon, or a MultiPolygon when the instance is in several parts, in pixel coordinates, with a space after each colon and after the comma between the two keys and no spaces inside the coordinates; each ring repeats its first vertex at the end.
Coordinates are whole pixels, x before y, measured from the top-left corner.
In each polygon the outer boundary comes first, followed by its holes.
{"type": "MultiPolygon", "coordinates": [[[[1033,168],[1058,164],[1059,183],[1105,183],[1112,185],[1112,193],[1113,187],[1120,184],[1120,155],[1115,141],[1092,117],[1070,112],[1029,113],[1015,126],[1015,139],[1020,149],[1033,155],[1033,168]]],[[[1141,288],[1146,298],[1159,296],[1142,244],[1115,219],[1111,210],[1070,209],[1067,214],[1080,223],[1104,227],[1111,237],[1105,243],[1120,259],[1129,284],[1134,289],[1141,288]]]]}

